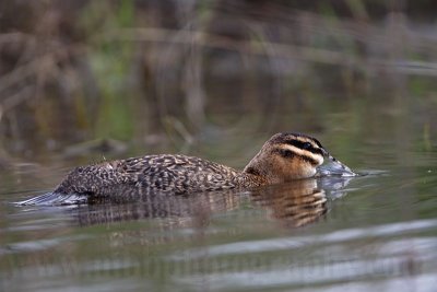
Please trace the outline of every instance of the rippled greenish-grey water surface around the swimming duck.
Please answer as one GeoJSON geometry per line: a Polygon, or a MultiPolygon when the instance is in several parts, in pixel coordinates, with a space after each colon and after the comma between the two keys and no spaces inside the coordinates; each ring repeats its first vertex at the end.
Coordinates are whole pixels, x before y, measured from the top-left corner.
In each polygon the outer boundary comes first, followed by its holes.
{"type": "Polygon", "coordinates": [[[369,173],[347,180],[134,205],[15,207],[68,170],[15,166],[1,174],[0,289],[434,291],[437,153],[403,147],[331,151],[369,173]]]}

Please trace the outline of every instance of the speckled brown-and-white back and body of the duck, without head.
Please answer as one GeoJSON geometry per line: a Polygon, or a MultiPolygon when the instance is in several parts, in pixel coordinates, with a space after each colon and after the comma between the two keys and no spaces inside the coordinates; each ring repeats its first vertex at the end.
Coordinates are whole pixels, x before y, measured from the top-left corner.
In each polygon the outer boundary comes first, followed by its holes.
{"type": "Polygon", "coordinates": [[[119,189],[188,194],[234,188],[240,173],[225,165],[185,155],[147,155],[74,168],[57,194],[109,196],[119,189]]]}

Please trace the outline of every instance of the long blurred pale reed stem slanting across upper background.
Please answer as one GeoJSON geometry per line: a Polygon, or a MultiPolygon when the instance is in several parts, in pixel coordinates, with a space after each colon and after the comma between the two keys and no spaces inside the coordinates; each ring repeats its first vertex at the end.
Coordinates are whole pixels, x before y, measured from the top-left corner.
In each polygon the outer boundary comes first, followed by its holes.
{"type": "Polygon", "coordinates": [[[106,35],[108,38],[131,42],[163,42],[181,45],[197,45],[203,47],[237,50],[244,54],[268,55],[285,57],[304,61],[320,62],[326,65],[345,66],[361,69],[363,63],[376,69],[395,69],[408,74],[437,75],[437,63],[416,60],[391,61],[387,58],[366,58],[347,55],[343,51],[320,49],[308,46],[295,46],[269,42],[269,50],[265,47],[256,45],[252,40],[234,40],[227,37],[192,31],[172,31],[164,28],[129,28],[111,32],[106,35]],[[175,36],[178,37],[175,37],[175,36]]]}

